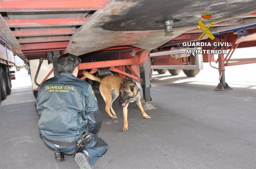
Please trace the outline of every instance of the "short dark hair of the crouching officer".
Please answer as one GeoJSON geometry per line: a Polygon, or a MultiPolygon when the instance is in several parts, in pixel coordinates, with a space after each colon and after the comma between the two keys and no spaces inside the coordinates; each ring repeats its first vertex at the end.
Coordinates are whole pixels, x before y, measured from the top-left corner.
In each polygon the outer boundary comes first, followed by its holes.
{"type": "Polygon", "coordinates": [[[64,54],[58,58],[58,71],[65,73],[73,73],[76,66],[78,66],[79,58],[72,54],[64,54]]]}

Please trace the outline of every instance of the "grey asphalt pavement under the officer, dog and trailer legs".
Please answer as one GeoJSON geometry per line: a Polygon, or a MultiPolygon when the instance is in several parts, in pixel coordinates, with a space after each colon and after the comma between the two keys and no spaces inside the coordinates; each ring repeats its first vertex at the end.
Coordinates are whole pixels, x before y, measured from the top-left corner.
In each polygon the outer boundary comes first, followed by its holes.
{"type": "MultiPolygon", "coordinates": [[[[112,120],[95,89],[103,119],[98,135],[109,149],[94,168],[256,168],[255,64],[226,68],[227,83],[233,87],[226,91],[213,90],[219,75],[208,64],[196,77],[154,73],[151,97],[158,109],[146,111],[151,116],[147,120],[130,104],[128,132],[122,132],[118,102],[113,104],[118,119],[112,120]],[[249,70],[241,71],[245,68],[249,70]]],[[[0,168],[78,168],[72,156],[56,163],[40,140],[30,77],[19,74],[12,94],[0,104],[0,168]]]]}

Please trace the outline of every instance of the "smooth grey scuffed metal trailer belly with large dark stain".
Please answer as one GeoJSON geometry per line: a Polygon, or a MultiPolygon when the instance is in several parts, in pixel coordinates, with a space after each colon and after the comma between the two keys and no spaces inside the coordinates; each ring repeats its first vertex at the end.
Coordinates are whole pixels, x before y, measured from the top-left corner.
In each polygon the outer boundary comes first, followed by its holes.
{"type": "Polygon", "coordinates": [[[82,55],[119,45],[151,50],[195,29],[201,13],[212,13],[217,21],[231,20],[255,12],[255,5],[254,0],[236,1],[235,4],[232,0],[213,0],[210,3],[203,0],[193,3],[190,0],[112,0],[79,28],[66,52],[82,55]],[[181,19],[174,22],[172,33],[164,33],[163,23],[158,22],[168,19],[181,19]]]}

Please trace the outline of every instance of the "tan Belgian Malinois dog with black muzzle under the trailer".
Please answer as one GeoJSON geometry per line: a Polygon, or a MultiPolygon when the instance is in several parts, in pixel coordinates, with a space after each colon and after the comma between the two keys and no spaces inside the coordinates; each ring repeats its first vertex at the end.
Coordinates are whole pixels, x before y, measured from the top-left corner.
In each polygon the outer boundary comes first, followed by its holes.
{"type": "Polygon", "coordinates": [[[127,108],[129,103],[135,102],[137,106],[140,108],[141,114],[149,119],[151,118],[148,116],[145,111],[142,108],[141,105],[141,95],[138,87],[135,83],[131,82],[125,82],[124,77],[120,76],[112,76],[108,75],[105,76],[103,79],[93,76],[91,73],[87,72],[86,70],[83,70],[83,75],[85,75],[88,79],[95,80],[99,83],[99,91],[101,92],[101,96],[103,97],[106,107],[105,111],[108,113],[108,115],[112,119],[116,119],[115,111],[112,108],[113,102],[116,100],[118,96],[120,96],[119,99],[119,105],[123,107],[123,113],[124,113],[124,128],[122,131],[126,132],[128,131],[128,121],[127,121],[127,108]],[[111,111],[110,111],[111,110],[111,111]],[[111,114],[112,113],[112,114],[111,114]]]}

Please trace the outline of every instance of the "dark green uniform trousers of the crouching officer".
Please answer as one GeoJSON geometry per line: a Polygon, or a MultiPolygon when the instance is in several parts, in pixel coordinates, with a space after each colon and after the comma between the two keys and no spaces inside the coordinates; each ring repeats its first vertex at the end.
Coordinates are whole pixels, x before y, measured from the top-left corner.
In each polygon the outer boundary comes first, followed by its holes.
{"type": "MultiPolygon", "coordinates": [[[[89,142],[88,145],[85,146],[85,151],[88,152],[90,161],[92,165],[100,158],[102,157],[105,152],[108,150],[108,144],[105,143],[105,141],[101,138],[99,138],[97,135],[91,134],[91,141],[89,142]]],[[[75,149],[77,146],[70,146],[70,147],[57,147],[54,144],[51,144],[45,139],[43,139],[45,142],[46,146],[48,146],[50,149],[53,149],[55,151],[63,152],[65,154],[73,154],[75,152],[75,149]]]]}

